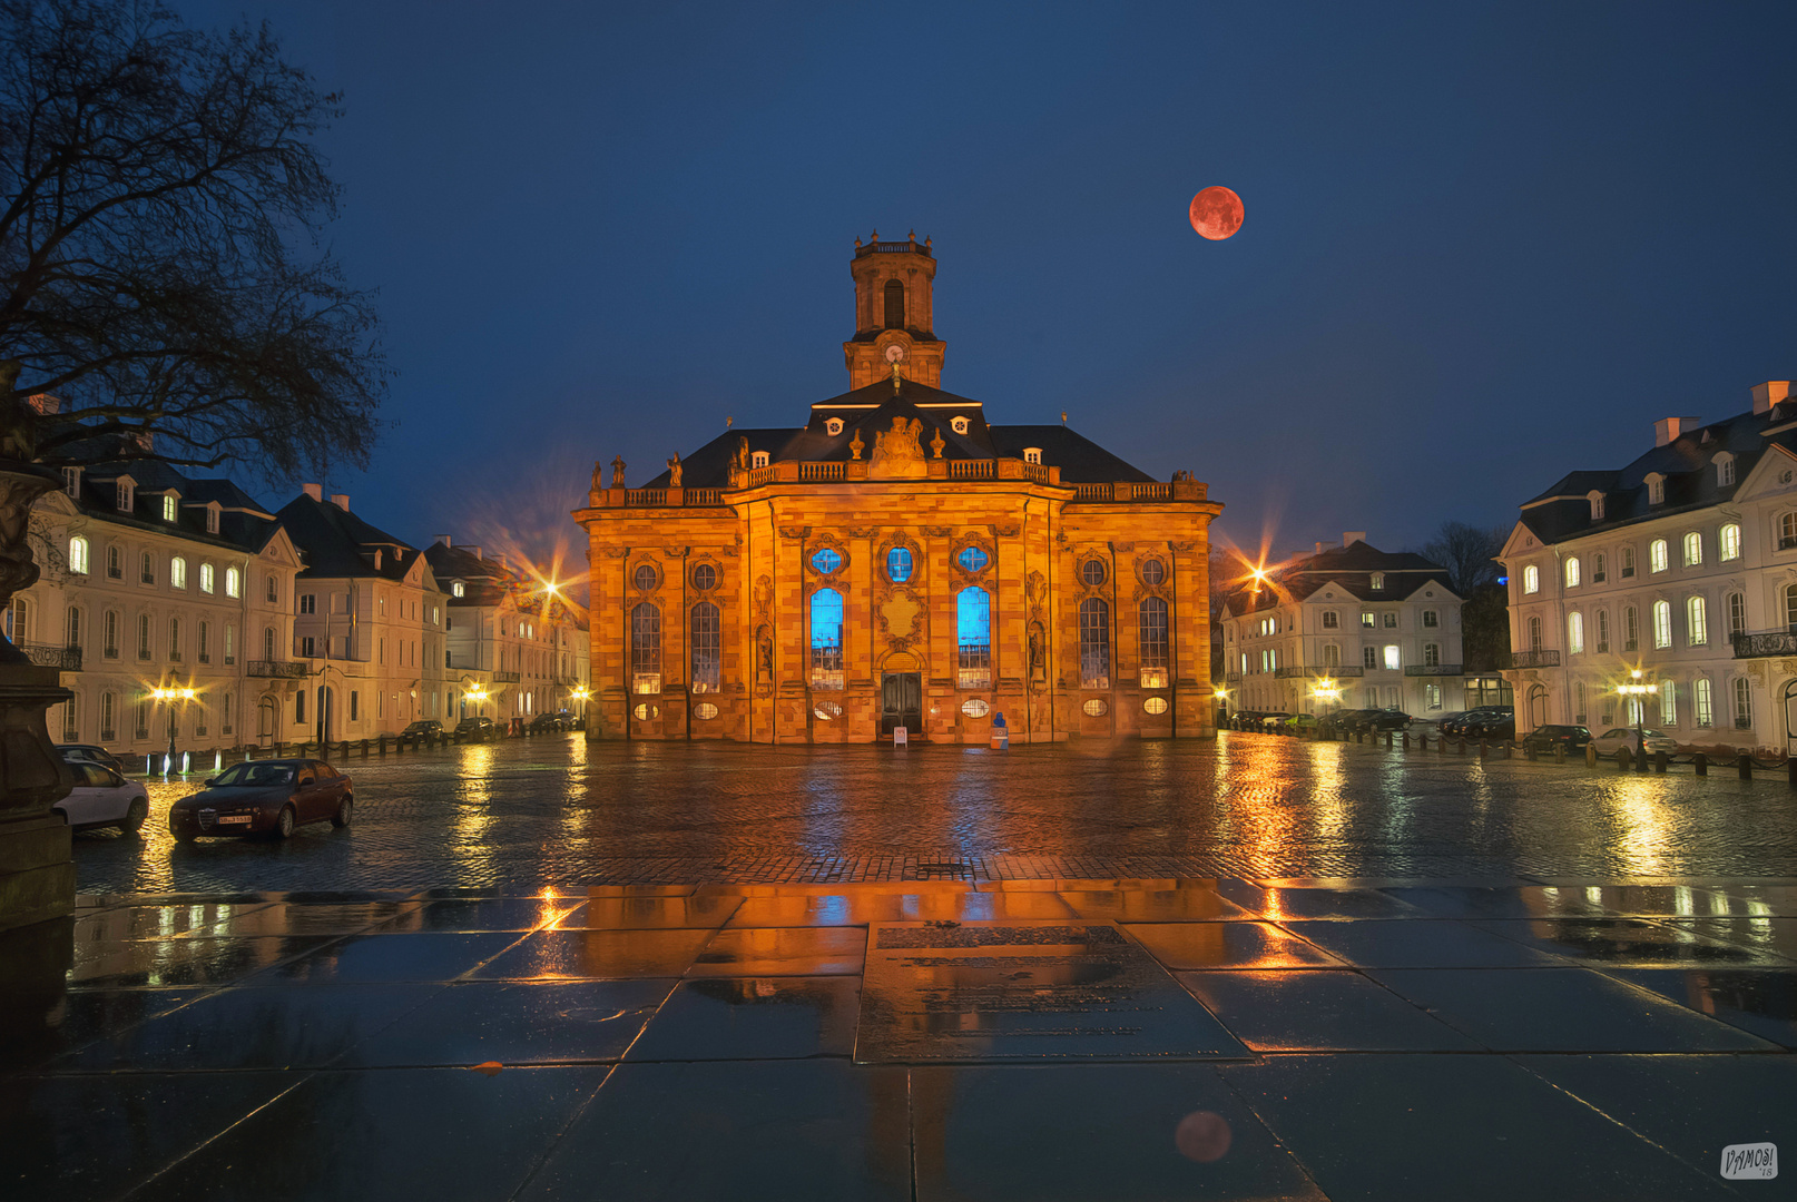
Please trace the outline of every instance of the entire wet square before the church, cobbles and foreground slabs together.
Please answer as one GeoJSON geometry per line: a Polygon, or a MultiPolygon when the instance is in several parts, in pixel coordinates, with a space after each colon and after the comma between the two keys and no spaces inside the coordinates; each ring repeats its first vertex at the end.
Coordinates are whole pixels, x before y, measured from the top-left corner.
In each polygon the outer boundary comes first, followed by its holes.
{"type": "MultiPolygon", "coordinates": [[[[1258,735],[530,740],[77,835],[0,1198],[1788,1198],[1797,794],[1258,735]],[[1757,1155],[1757,1153],[1756,1153],[1757,1155]],[[1759,1164],[1761,1161],[1752,1161],[1759,1164]]],[[[198,782],[196,782],[198,783],[198,782]]]]}

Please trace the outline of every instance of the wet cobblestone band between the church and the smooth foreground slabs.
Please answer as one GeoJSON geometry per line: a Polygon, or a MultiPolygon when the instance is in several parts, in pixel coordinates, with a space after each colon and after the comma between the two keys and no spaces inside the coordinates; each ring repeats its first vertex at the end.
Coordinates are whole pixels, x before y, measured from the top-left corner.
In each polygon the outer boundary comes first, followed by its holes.
{"type": "Polygon", "coordinates": [[[577,737],[349,758],[356,825],[77,835],[86,891],[929,877],[1603,880],[1797,875],[1797,791],[1229,735],[1217,744],[739,747],[577,737]]]}

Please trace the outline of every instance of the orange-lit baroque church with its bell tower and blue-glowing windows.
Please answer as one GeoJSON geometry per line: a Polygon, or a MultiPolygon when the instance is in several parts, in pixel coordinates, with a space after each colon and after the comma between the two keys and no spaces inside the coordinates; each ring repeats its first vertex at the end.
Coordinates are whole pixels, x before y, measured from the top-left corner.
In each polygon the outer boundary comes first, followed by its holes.
{"type": "Polygon", "coordinates": [[[588,737],[1215,735],[1222,505],[943,392],[929,241],[857,239],[850,273],[850,392],[640,489],[595,465],[588,737]]]}

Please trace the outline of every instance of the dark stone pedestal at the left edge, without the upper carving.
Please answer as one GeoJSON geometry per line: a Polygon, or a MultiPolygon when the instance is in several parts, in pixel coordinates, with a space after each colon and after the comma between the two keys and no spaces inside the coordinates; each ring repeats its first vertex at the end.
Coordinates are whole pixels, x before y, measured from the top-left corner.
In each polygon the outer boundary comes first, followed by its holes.
{"type": "Polygon", "coordinates": [[[68,825],[50,812],[75,782],[43,722],[68,697],[56,668],[0,663],[0,931],[75,907],[68,825]]]}

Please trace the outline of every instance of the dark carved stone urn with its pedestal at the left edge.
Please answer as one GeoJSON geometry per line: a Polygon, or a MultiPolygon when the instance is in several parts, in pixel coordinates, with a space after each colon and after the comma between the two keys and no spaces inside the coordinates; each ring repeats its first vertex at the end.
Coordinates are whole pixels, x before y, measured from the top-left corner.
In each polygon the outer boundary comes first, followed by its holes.
{"type": "MultiPolygon", "coordinates": [[[[38,582],[25,532],[31,507],[61,483],[47,467],[0,460],[0,611],[38,582]]],[[[74,694],[0,636],[0,931],[74,913],[68,825],[50,812],[74,776],[50,742],[45,711],[74,694]]]]}

